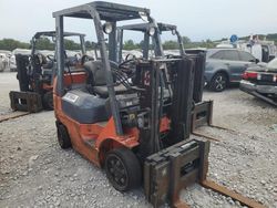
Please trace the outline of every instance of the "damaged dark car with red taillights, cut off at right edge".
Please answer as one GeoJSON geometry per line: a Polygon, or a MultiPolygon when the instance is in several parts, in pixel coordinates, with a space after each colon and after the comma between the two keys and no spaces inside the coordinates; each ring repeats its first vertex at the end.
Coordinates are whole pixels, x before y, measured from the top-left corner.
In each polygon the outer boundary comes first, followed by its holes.
{"type": "Polygon", "coordinates": [[[277,58],[265,67],[248,67],[243,75],[239,89],[277,106],[277,58]]]}

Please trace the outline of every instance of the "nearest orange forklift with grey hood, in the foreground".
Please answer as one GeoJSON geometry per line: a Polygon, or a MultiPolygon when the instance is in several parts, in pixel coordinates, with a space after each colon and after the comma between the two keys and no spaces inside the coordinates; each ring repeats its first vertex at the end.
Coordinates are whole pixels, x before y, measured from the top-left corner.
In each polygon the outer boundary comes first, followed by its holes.
{"type": "Polygon", "coordinates": [[[155,24],[144,8],[96,1],[53,17],[58,63],[53,101],[60,146],[72,146],[104,168],[120,191],[143,185],[154,207],[184,206],[178,200],[182,188],[194,183],[208,187],[209,142],[188,138],[195,60],[184,54],[116,63],[116,24],[141,19],[155,24]],[[70,74],[64,73],[66,17],[92,20],[101,54],[70,74]]]}

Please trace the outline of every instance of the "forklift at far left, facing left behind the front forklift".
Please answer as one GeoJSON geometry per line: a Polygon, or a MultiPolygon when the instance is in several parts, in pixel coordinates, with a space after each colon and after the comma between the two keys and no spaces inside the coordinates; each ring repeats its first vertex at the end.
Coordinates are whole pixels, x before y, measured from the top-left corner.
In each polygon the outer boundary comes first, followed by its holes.
{"type": "MultiPolygon", "coordinates": [[[[80,40],[80,51],[85,56],[84,34],[64,32],[65,38],[76,37],[80,40]]],[[[55,31],[37,32],[31,40],[31,54],[17,54],[17,79],[20,91],[10,92],[11,108],[37,113],[41,110],[53,110],[53,83],[55,73],[55,55],[50,51],[38,50],[38,42],[42,39],[52,39],[55,42],[55,31]]],[[[53,45],[54,46],[54,45],[53,45]]],[[[64,52],[66,54],[66,52],[64,52]]],[[[85,58],[86,59],[86,58],[85,58]]],[[[74,70],[79,60],[76,56],[65,59],[66,73],[74,70]]],[[[81,62],[81,60],[80,60],[81,62]]]]}

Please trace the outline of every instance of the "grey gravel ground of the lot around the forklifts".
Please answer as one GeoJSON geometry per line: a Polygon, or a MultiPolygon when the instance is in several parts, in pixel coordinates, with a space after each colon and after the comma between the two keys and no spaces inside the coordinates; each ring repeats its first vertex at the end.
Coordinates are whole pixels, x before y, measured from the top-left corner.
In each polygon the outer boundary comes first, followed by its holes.
{"type": "MultiPolygon", "coordinates": [[[[0,73],[0,115],[9,110],[8,93],[17,90],[14,73],[0,73]]],[[[230,89],[205,92],[214,100],[214,123],[233,131],[202,127],[214,135],[208,177],[245,196],[277,207],[276,108],[230,89]]],[[[240,207],[237,201],[197,185],[183,190],[192,207],[240,207]]],[[[151,207],[143,190],[121,194],[104,171],[57,143],[53,112],[0,123],[0,207],[151,207]]]]}

